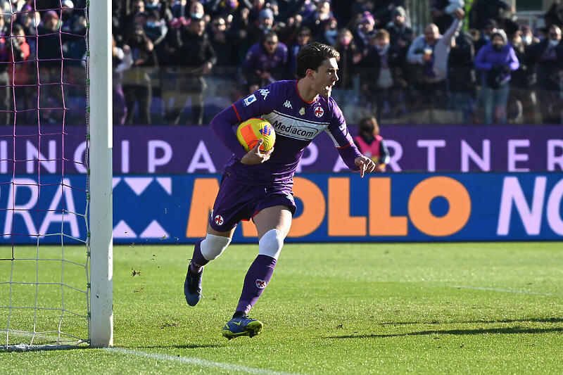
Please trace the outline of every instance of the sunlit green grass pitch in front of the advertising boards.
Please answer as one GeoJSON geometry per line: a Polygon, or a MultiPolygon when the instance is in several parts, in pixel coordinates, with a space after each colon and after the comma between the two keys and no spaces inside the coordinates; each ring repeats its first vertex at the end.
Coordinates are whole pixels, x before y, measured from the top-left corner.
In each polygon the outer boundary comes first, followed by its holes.
{"type": "Polygon", "coordinates": [[[0,351],[0,373],[563,373],[562,243],[288,244],[251,312],[264,331],[226,341],[256,253],[229,247],[189,307],[191,246],[115,246],[117,348],[0,351]]]}

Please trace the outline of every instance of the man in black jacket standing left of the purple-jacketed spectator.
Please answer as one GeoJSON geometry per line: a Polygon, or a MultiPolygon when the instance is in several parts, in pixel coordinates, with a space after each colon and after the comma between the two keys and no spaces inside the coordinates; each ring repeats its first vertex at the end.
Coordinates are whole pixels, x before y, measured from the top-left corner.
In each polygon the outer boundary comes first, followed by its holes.
{"type": "Polygon", "coordinates": [[[176,96],[172,108],[166,110],[167,121],[177,125],[180,115],[186,106],[186,100],[191,100],[191,123],[203,125],[203,108],[205,89],[204,75],[208,75],[217,63],[217,56],[211,46],[208,34],[205,33],[203,18],[190,18],[189,28],[179,31],[176,61],[178,76],[176,82],[176,96]]]}

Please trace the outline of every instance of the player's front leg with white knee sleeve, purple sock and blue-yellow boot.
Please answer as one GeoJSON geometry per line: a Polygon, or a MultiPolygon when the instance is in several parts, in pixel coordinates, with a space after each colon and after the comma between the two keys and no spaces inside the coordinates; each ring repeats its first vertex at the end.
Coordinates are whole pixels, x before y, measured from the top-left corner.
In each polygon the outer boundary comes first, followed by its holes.
{"type": "Polygon", "coordinates": [[[253,218],[258,231],[258,256],[246,272],[239,305],[233,318],[225,324],[223,336],[255,336],[262,331],[258,320],[249,319],[248,311],[256,303],[272,278],[277,258],[291,227],[292,210],[286,205],[275,205],[260,210],[253,218]]]}

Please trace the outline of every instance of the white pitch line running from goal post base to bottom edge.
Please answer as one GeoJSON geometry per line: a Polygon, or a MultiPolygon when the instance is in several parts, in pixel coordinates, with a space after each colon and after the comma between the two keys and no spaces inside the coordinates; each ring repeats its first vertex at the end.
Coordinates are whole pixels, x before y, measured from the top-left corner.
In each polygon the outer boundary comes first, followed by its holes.
{"type": "Polygon", "coordinates": [[[131,349],[125,349],[125,348],[114,347],[114,348],[105,348],[104,350],[107,350],[108,352],[118,352],[120,354],[137,355],[139,357],[147,357],[147,358],[151,358],[153,360],[188,363],[188,364],[194,364],[196,366],[201,366],[201,367],[215,367],[217,369],[224,369],[224,370],[229,370],[229,371],[247,372],[248,374],[299,375],[299,374],[290,373],[290,372],[270,371],[270,370],[265,370],[265,369],[257,369],[255,367],[240,366],[239,364],[213,362],[213,361],[208,361],[208,360],[202,360],[201,358],[177,357],[175,355],[141,352],[140,350],[131,350],[131,349]]]}

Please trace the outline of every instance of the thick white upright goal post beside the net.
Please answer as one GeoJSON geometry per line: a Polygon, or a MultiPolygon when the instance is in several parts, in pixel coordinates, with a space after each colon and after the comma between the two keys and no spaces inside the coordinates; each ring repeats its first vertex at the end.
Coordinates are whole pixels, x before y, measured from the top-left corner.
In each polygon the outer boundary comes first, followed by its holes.
{"type": "Polygon", "coordinates": [[[90,0],[88,46],[90,345],[113,345],[111,1],[90,0]]]}

